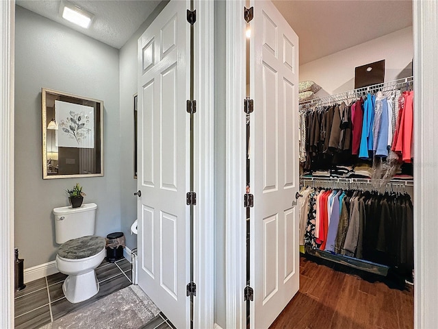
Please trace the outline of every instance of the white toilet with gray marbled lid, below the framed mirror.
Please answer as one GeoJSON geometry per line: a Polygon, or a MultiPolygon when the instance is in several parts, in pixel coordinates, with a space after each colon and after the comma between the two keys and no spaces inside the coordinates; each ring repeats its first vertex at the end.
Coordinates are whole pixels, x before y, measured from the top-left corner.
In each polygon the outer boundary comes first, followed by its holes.
{"type": "Polygon", "coordinates": [[[56,255],[56,267],[68,275],[62,290],[71,303],[83,302],[99,292],[94,269],[105,258],[106,240],[93,236],[96,209],[96,204],[53,209],[56,243],[62,243],[56,255]]]}

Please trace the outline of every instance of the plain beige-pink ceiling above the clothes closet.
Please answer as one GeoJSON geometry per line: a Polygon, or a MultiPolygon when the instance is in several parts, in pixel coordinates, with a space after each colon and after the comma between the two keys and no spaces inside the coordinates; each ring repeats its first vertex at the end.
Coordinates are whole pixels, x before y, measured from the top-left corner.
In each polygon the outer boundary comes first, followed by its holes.
{"type": "Polygon", "coordinates": [[[300,65],[412,25],[411,0],[273,2],[298,34],[300,65]]]}

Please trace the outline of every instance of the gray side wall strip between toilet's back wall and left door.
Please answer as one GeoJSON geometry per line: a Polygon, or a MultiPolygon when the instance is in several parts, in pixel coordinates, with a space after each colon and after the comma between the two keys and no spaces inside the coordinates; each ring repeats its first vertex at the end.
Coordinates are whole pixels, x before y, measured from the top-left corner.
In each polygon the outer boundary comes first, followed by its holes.
{"type": "Polygon", "coordinates": [[[149,15],[137,32],[120,49],[120,226],[125,232],[129,249],[137,247],[137,236],[131,235],[131,225],[137,218],[137,180],[133,178],[134,131],[133,131],[133,95],[137,93],[137,40],[168,0],[162,1],[149,15]]]}

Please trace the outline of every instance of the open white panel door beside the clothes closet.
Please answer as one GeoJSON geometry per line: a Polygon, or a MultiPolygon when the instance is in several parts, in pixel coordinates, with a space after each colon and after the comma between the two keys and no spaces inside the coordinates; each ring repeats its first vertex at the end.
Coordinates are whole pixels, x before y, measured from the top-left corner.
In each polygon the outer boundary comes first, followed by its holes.
{"type": "Polygon", "coordinates": [[[271,1],[252,1],[251,328],[268,328],[299,287],[298,36],[271,1]]]}

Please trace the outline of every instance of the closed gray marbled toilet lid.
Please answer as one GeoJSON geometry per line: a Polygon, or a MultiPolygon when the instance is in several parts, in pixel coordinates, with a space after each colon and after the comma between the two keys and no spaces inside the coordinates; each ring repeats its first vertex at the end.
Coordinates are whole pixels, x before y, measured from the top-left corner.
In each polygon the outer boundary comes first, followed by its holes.
{"type": "Polygon", "coordinates": [[[106,240],[101,236],[82,236],[63,243],[57,254],[68,259],[87,258],[99,254],[105,245],[106,240]]]}

